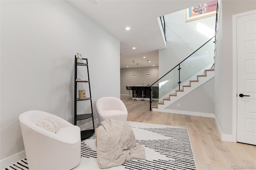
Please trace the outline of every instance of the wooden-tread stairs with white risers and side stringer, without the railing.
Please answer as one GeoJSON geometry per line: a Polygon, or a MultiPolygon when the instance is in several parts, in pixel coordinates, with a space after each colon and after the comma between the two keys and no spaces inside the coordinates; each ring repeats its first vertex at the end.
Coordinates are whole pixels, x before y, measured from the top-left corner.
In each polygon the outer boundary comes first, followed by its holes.
{"type": "Polygon", "coordinates": [[[156,106],[152,106],[152,111],[168,112],[166,107],[172,105],[172,103],[178,101],[178,99],[184,97],[200,85],[204,84],[208,80],[214,77],[214,69],[205,69],[204,74],[196,75],[196,79],[191,79],[188,84],[182,85],[181,90],[175,90],[175,93],[169,94],[167,98],[162,99],[162,101],[156,103],[156,106]]]}

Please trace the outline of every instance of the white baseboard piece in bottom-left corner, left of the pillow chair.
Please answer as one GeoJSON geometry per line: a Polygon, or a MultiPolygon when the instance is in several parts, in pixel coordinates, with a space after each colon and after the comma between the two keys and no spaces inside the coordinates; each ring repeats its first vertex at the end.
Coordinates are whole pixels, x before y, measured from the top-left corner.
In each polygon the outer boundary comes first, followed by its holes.
{"type": "Polygon", "coordinates": [[[9,156],[8,158],[5,158],[3,160],[0,160],[0,169],[4,169],[16,162],[18,162],[19,160],[22,160],[26,158],[26,153],[25,153],[25,150],[17,153],[17,154],[14,154],[12,156],[9,156]]]}

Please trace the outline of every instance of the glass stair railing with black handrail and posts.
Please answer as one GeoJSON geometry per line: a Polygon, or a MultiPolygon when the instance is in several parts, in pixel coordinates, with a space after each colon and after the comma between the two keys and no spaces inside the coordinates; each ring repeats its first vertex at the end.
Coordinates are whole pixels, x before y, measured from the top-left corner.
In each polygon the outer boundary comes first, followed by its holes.
{"type": "Polygon", "coordinates": [[[189,85],[190,80],[196,78],[196,75],[204,73],[205,69],[210,69],[214,63],[214,49],[213,37],[154,82],[150,86],[150,111],[152,99],[158,98],[158,101],[162,101],[168,98],[169,95],[182,90],[182,85],[189,85]]]}

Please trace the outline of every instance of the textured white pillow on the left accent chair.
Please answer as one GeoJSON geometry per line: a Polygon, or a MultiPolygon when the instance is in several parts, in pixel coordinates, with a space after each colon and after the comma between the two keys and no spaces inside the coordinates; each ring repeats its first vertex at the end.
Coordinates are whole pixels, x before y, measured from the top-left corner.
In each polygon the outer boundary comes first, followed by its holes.
{"type": "Polygon", "coordinates": [[[58,124],[51,117],[46,117],[42,121],[36,123],[36,125],[53,133],[56,133],[60,129],[58,124]]]}

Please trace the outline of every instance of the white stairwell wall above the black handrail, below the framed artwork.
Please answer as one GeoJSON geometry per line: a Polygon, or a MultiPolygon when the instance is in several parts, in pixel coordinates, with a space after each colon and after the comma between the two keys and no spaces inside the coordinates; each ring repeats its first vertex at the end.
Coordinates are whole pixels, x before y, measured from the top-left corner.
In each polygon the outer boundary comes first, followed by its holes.
{"type": "Polygon", "coordinates": [[[166,49],[159,50],[159,77],[214,36],[216,16],[185,22],[185,10],[180,10],[164,16],[164,19],[167,42],[166,49]],[[198,32],[197,27],[202,25],[212,30],[208,36],[198,32]]]}

